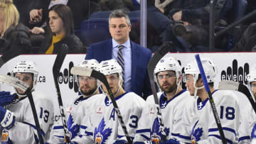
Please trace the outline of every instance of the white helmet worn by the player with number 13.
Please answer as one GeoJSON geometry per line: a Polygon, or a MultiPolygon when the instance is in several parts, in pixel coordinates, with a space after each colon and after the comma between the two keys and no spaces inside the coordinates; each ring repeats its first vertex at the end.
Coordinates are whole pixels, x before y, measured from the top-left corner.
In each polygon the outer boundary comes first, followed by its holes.
{"type": "Polygon", "coordinates": [[[15,66],[14,69],[11,72],[11,76],[15,77],[16,73],[30,73],[33,76],[33,86],[31,87],[31,91],[34,90],[38,78],[38,68],[36,66],[35,62],[31,61],[21,61],[18,62],[15,66]]]}

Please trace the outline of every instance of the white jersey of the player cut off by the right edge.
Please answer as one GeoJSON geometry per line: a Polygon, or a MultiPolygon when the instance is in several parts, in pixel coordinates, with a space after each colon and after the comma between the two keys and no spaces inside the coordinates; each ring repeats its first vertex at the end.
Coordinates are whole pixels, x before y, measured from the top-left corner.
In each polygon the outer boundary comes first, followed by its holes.
{"type": "Polygon", "coordinates": [[[256,114],[249,104],[243,109],[242,118],[239,127],[239,144],[250,143],[252,128],[256,123],[256,114]]]}

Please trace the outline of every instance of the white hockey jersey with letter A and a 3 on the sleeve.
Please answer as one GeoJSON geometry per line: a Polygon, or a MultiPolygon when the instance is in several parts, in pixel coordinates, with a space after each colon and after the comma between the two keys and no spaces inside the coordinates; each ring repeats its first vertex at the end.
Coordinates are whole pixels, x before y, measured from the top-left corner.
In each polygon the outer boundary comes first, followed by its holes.
{"type": "MultiPolygon", "coordinates": [[[[82,143],[107,144],[114,143],[117,139],[127,140],[111,100],[104,94],[95,95],[92,99],[92,106],[87,109],[90,114],[83,119],[87,128],[82,136],[82,143]]],[[[129,136],[134,138],[145,101],[134,92],[126,92],[115,100],[129,136]]]]}

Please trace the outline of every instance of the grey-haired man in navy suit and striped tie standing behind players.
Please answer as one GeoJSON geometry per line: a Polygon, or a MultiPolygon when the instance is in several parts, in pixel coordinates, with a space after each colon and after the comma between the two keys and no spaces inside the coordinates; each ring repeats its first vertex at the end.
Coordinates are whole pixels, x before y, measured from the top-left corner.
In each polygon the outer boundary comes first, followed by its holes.
{"type": "Polygon", "coordinates": [[[110,13],[109,29],[112,39],[90,45],[85,59],[94,58],[102,62],[102,60],[113,58],[118,61],[119,56],[122,55],[125,91],[135,92],[146,99],[151,94],[147,72],[151,51],[129,39],[131,28],[130,19],[126,13],[120,10],[110,13]]]}

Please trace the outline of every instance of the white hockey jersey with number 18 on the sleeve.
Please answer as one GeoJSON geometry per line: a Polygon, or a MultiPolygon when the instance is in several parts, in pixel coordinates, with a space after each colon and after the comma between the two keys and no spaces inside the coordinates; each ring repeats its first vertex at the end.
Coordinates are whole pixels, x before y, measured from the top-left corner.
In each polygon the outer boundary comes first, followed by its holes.
{"type": "MultiPolygon", "coordinates": [[[[237,97],[230,91],[215,90],[213,101],[220,117],[225,139],[228,143],[235,142],[235,136],[238,134],[240,125],[240,109],[237,97]]],[[[182,127],[184,128],[182,128],[182,133],[179,136],[181,141],[188,143],[188,139],[191,138],[191,143],[222,143],[209,100],[201,101],[197,96],[193,104],[187,106],[191,106],[191,108],[186,109],[192,111],[183,113],[182,127]]]]}

